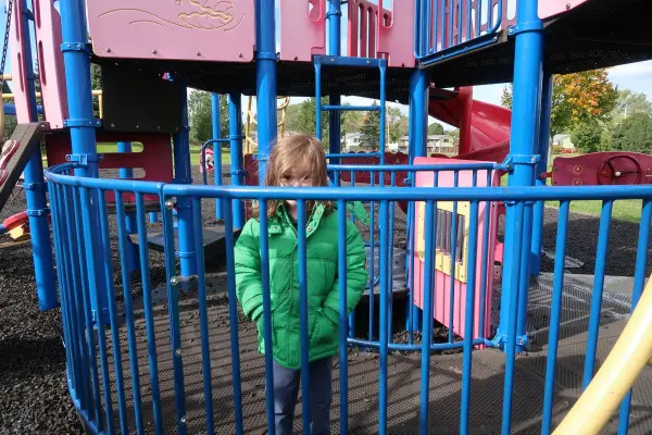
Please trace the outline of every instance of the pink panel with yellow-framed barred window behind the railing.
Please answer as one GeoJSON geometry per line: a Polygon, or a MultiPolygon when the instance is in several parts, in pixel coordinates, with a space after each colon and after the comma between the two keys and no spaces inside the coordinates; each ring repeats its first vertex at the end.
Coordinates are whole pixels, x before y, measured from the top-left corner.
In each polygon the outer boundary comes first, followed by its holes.
{"type": "MultiPolygon", "coordinates": [[[[454,164],[454,163],[464,163],[463,160],[457,159],[435,159],[435,158],[415,158],[414,164],[454,164]]],[[[477,176],[477,186],[486,187],[487,182],[487,172],[478,171],[477,176]]],[[[416,175],[416,186],[417,187],[427,187],[432,186],[434,183],[434,173],[432,172],[418,172],[416,175]]],[[[498,186],[500,181],[497,174],[493,175],[492,185],[498,186]]],[[[439,186],[453,186],[453,173],[441,172],[439,174],[439,186]]],[[[472,186],[472,171],[461,171],[460,172],[460,187],[471,187],[472,186]]],[[[414,225],[417,225],[417,216],[419,208],[424,207],[424,204],[416,204],[416,213],[414,225]]],[[[489,253],[489,263],[487,264],[487,285],[486,285],[486,298],[485,306],[480,307],[480,287],[481,287],[481,271],[482,271],[482,248],[481,240],[486,231],[489,231],[489,246],[488,252],[494,252],[496,249],[496,234],[497,234],[497,208],[492,204],[490,210],[487,210],[485,203],[479,204],[479,215],[478,215],[478,246],[477,246],[477,262],[476,262],[476,288],[474,296],[474,330],[473,336],[474,338],[478,337],[480,334],[480,310],[485,311],[485,332],[487,334],[490,333],[490,321],[491,321],[491,295],[492,295],[492,277],[493,277],[493,254],[489,253]],[[484,225],[484,216],[485,213],[491,213],[489,219],[489,228],[486,228],[484,225]]],[[[416,232],[415,232],[416,237],[416,232]]],[[[416,240],[415,240],[416,244],[416,240]]],[[[416,245],[415,245],[416,246],[416,245]]],[[[422,262],[418,256],[415,253],[413,256],[413,264],[414,264],[414,303],[422,308],[424,307],[424,268],[425,263],[422,262]]],[[[450,307],[450,279],[451,277],[446,273],[440,271],[436,271],[435,274],[435,288],[434,288],[434,301],[432,301],[432,316],[438,322],[442,323],[447,327],[452,325],[455,334],[464,337],[466,331],[464,330],[465,322],[465,301],[466,301],[466,291],[467,286],[465,283],[461,283],[455,279],[454,282],[454,303],[453,303],[453,318],[450,319],[449,315],[449,307],[450,307]]]]}

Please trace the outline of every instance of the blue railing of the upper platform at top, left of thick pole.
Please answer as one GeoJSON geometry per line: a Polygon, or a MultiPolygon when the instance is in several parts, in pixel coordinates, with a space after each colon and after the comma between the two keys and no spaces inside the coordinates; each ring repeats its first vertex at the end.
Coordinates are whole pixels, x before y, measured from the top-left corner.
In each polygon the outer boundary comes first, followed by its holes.
{"type": "Polygon", "coordinates": [[[497,41],[506,0],[421,0],[414,54],[428,65],[497,41]]]}

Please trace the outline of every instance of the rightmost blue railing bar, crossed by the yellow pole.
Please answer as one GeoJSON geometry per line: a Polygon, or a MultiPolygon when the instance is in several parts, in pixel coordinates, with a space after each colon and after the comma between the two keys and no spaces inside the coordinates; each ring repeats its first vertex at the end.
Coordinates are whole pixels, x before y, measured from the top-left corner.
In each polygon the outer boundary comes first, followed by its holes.
{"type": "MultiPolygon", "coordinates": [[[[639,241],[636,251],[636,270],[634,272],[634,294],[631,312],[636,309],[645,285],[645,265],[648,263],[648,244],[650,241],[650,221],[652,221],[652,201],[643,201],[641,222],[639,224],[639,241]]],[[[618,435],[626,435],[629,430],[629,408],[631,406],[631,389],[620,403],[618,435]]]]}

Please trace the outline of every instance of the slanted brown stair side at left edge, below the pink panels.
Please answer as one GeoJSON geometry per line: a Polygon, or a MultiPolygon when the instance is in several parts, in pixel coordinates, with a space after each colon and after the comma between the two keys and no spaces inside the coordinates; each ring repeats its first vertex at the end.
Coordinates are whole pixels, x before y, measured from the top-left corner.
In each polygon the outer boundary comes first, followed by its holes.
{"type": "Polygon", "coordinates": [[[47,129],[47,123],[20,124],[0,148],[3,150],[0,152],[0,210],[11,197],[29,158],[40,149],[47,129]]]}

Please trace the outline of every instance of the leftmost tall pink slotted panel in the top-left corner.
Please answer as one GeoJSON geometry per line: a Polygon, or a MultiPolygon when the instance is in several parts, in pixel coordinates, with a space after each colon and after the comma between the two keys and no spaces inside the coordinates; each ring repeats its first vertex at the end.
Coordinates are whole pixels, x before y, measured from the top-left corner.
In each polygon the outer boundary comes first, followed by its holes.
{"type": "Polygon", "coordinates": [[[18,124],[28,123],[32,120],[29,113],[29,104],[27,102],[26,85],[27,70],[23,62],[23,2],[15,1],[13,5],[12,28],[10,35],[10,53],[11,53],[11,88],[14,95],[14,103],[16,105],[16,117],[18,124]]]}

